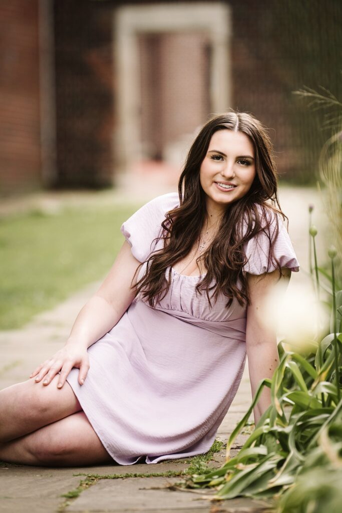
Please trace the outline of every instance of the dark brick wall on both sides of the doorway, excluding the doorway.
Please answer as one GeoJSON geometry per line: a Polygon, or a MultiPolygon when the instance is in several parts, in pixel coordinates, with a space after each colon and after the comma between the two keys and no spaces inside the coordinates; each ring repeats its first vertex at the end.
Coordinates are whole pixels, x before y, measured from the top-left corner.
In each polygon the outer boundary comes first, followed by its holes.
{"type": "MultiPolygon", "coordinates": [[[[151,3],[153,0],[150,0],[151,3]]],[[[168,0],[171,1],[171,0],[168,0]]],[[[113,181],[113,10],[140,0],[54,0],[57,176],[55,185],[113,181]]],[[[339,0],[229,0],[231,107],[271,128],[278,167],[315,181],[323,116],[292,91],[320,85],[342,95],[339,0]]],[[[196,2],[194,2],[195,8],[196,2]]],[[[41,186],[38,0],[0,3],[0,187],[41,186]]]]}

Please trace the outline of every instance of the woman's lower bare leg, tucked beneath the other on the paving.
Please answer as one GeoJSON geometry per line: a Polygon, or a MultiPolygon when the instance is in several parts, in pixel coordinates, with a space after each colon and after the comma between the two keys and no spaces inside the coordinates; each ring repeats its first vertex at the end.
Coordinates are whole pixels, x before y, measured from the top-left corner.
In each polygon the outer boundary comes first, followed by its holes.
{"type": "Polygon", "coordinates": [[[114,462],[83,411],[0,444],[1,459],[9,463],[53,467],[114,462]]]}

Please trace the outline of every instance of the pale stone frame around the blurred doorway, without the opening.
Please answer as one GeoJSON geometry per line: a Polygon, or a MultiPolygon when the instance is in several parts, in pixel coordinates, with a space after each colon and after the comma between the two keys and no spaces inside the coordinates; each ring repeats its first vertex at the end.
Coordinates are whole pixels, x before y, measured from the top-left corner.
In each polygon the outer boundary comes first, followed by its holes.
{"type": "Polygon", "coordinates": [[[128,5],[114,13],[114,154],[117,173],[142,156],[137,34],[205,31],[211,46],[211,112],[231,105],[231,12],[222,2],[128,5]]]}

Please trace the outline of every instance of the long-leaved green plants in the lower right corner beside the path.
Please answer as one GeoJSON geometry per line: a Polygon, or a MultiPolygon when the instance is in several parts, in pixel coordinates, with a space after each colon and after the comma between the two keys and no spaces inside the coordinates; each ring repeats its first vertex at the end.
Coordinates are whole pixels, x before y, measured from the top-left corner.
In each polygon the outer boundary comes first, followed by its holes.
{"type": "MultiPolygon", "coordinates": [[[[330,251],[333,260],[336,252],[330,251]]],[[[272,404],[238,455],[222,467],[191,476],[183,486],[215,488],[217,500],[278,498],[278,513],[334,513],[342,503],[342,291],[335,293],[330,331],[306,356],[278,346],[280,364],[260,383],[245,417],[232,432],[227,455],[264,386],[272,404]]],[[[311,346],[312,347],[312,346],[311,346]]]]}

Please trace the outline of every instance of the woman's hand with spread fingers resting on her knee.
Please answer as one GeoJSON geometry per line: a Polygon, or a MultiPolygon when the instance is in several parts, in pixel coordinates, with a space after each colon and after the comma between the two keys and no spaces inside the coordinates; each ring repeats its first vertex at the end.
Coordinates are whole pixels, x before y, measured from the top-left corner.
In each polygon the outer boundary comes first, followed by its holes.
{"type": "Polygon", "coordinates": [[[79,369],[78,383],[83,385],[89,370],[89,357],[87,348],[84,344],[67,343],[62,349],[57,351],[50,360],[46,360],[39,365],[30,375],[35,377],[35,382],[43,381],[43,385],[51,383],[56,374],[61,371],[57,388],[62,388],[70,370],[76,367],[79,369]]]}

